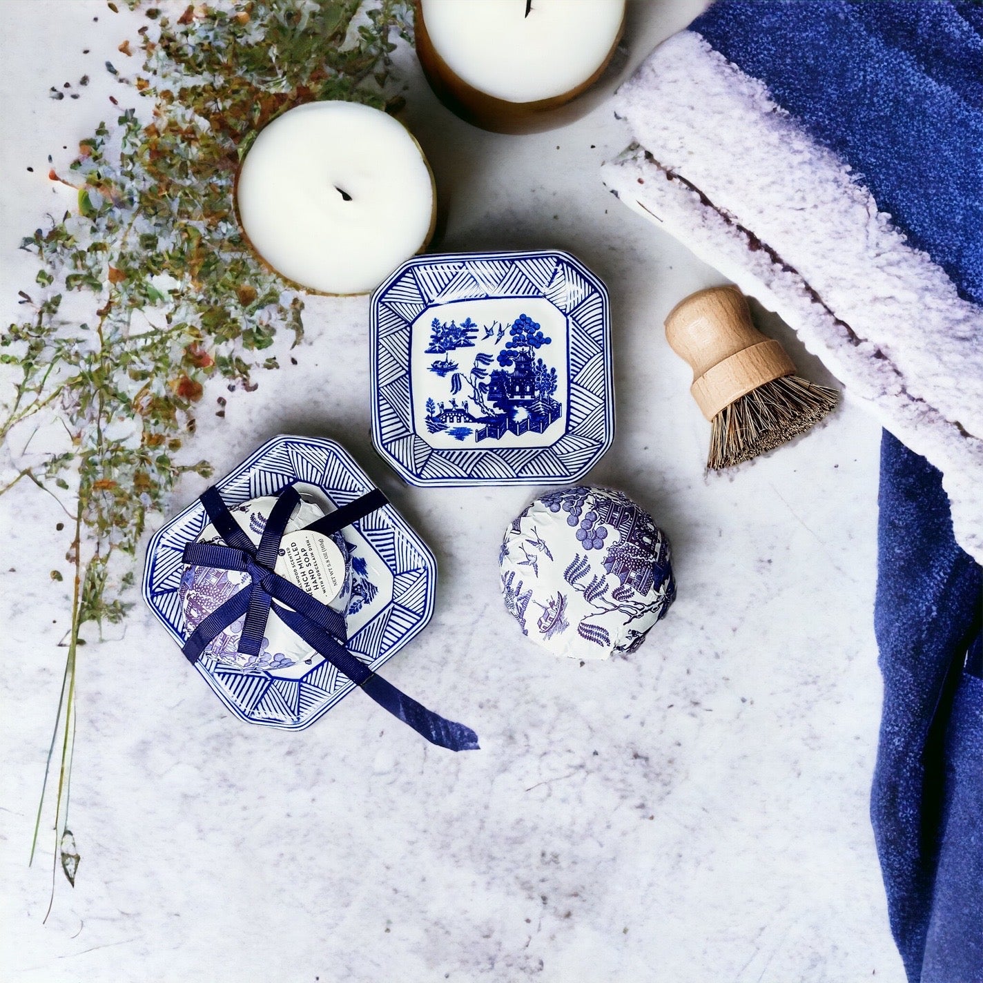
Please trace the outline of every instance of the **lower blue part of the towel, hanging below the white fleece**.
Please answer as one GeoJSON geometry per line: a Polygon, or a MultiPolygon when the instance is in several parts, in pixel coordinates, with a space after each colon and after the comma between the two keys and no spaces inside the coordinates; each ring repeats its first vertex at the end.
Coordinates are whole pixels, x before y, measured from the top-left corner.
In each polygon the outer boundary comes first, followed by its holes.
{"type": "Polygon", "coordinates": [[[983,980],[983,570],[942,477],[887,432],[874,627],[884,716],[871,818],[910,980],[983,980]]]}

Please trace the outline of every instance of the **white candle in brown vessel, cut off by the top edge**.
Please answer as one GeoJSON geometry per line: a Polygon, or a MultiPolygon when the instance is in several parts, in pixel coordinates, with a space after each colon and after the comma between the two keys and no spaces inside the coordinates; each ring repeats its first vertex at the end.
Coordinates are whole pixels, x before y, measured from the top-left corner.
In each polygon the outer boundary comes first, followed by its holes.
{"type": "Polygon", "coordinates": [[[499,132],[549,126],[550,110],[602,75],[625,0],[416,0],[417,54],[463,119],[499,132]]]}

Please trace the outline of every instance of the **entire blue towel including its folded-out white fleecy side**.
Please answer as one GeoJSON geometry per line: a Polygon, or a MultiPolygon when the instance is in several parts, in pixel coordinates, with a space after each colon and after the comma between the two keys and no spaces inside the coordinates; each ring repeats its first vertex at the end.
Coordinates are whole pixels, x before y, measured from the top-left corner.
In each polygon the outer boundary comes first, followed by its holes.
{"type": "Polygon", "coordinates": [[[946,469],[885,433],[871,816],[908,978],[983,983],[983,2],[719,0],[617,107],[608,187],[946,469]]]}

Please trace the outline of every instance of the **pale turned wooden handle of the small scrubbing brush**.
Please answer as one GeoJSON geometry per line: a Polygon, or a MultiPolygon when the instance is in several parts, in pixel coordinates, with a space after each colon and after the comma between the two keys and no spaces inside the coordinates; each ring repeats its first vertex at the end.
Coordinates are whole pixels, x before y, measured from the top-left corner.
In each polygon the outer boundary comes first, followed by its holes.
{"type": "Polygon", "coordinates": [[[708,420],[759,385],[795,372],[781,342],[751,321],[734,286],[699,290],[665,318],[665,338],[693,369],[690,392],[708,420]]]}

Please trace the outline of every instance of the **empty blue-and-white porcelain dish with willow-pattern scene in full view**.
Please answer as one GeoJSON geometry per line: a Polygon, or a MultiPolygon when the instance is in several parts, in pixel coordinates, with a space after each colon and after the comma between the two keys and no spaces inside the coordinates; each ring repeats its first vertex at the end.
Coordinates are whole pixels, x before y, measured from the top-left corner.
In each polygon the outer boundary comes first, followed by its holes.
{"type": "Polygon", "coordinates": [[[372,300],[376,450],[411,485],[575,482],[614,436],[609,336],[567,253],[407,260],[372,300]]]}

